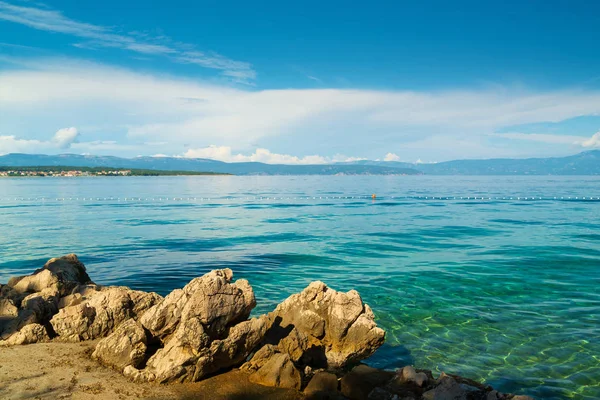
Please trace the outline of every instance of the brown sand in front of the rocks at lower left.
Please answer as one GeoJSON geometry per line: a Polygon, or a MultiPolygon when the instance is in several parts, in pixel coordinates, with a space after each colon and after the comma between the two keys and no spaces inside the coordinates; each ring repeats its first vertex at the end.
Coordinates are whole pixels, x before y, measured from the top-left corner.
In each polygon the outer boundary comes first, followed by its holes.
{"type": "Polygon", "coordinates": [[[94,341],[0,347],[0,399],[296,400],[295,390],[248,382],[238,370],[190,384],[140,384],[90,358],[94,341]]]}

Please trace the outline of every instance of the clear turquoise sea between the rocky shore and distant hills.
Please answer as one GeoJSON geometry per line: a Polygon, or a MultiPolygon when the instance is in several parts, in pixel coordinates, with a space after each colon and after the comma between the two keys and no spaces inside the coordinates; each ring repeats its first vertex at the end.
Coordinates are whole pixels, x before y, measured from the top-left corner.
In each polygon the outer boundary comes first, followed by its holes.
{"type": "Polygon", "coordinates": [[[69,252],[163,295],[229,267],[262,313],[319,279],[374,309],[372,365],[597,399],[598,196],[598,177],[0,179],[0,282],[69,252]]]}

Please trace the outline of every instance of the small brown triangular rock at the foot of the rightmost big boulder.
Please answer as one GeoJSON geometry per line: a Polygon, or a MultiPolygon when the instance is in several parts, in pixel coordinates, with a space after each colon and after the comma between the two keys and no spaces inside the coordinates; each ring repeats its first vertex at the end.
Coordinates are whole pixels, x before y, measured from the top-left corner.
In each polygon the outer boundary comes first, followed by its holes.
{"type": "Polygon", "coordinates": [[[296,369],[290,356],[284,353],[276,353],[269,357],[248,379],[259,385],[296,390],[300,390],[302,385],[300,371],[296,369]]]}

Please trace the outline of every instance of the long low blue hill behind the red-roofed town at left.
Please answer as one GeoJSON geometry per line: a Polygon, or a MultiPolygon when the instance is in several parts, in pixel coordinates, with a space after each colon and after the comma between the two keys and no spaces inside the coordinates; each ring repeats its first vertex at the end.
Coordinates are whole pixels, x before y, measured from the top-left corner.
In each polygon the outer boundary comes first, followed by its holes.
{"type": "Polygon", "coordinates": [[[198,171],[234,175],[418,175],[412,168],[375,165],[276,165],[257,162],[225,163],[203,158],[84,156],[60,154],[7,154],[0,156],[0,166],[37,167],[111,167],[162,171],[198,171]]]}

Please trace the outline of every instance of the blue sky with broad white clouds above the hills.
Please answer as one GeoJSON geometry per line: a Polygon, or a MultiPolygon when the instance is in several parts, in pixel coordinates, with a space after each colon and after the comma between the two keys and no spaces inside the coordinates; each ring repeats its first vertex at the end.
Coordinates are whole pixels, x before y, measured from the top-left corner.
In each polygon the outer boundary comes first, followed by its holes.
{"type": "Polygon", "coordinates": [[[0,0],[0,154],[600,149],[600,2],[0,0]]]}

